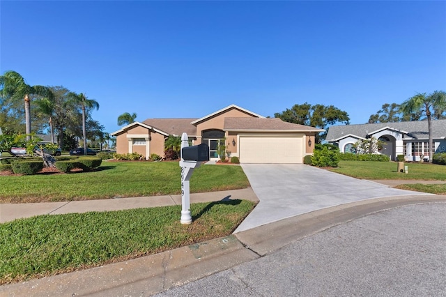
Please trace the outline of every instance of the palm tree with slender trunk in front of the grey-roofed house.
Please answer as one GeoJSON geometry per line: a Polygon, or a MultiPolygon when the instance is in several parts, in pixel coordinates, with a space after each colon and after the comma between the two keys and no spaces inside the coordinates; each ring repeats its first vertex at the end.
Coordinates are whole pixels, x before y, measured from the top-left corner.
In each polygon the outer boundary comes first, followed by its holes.
{"type": "Polygon", "coordinates": [[[433,155],[433,136],[432,136],[432,110],[444,109],[446,107],[445,91],[434,91],[426,95],[426,93],[417,93],[415,96],[408,98],[401,104],[401,110],[404,114],[412,114],[413,112],[424,112],[427,118],[427,126],[429,130],[429,162],[432,162],[433,155]]]}

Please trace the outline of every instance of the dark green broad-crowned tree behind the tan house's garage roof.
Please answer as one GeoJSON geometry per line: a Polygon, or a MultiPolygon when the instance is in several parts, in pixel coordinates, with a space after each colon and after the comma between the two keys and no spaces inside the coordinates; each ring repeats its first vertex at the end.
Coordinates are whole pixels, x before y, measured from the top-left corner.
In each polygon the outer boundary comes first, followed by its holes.
{"type": "MultiPolygon", "coordinates": [[[[329,125],[335,123],[349,124],[350,118],[348,114],[333,105],[310,105],[305,102],[302,105],[294,105],[291,109],[286,109],[284,112],[275,113],[276,118],[282,119],[289,123],[298,123],[300,125],[310,125],[312,127],[327,130],[329,125]]],[[[321,143],[327,136],[327,131],[316,135],[316,143],[321,143]]]]}

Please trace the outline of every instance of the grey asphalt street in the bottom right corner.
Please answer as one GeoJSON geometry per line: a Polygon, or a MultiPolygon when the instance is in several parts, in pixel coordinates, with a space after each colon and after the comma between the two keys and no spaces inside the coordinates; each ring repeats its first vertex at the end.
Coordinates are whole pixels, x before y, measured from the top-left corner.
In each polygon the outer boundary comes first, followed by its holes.
{"type": "Polygon", "coordinates": [[[156,296],[446,296],[445,213],[380,211],[156,296]]]}

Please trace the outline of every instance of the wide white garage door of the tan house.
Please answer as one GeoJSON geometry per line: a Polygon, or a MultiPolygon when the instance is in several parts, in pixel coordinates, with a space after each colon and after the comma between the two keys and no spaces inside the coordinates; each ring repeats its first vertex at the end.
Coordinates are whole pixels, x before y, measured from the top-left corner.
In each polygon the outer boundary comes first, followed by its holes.
{"type": "Polygon", "coordinates": [[[241,136],[242,163],[302,163],[303,135],[241,136]]]}

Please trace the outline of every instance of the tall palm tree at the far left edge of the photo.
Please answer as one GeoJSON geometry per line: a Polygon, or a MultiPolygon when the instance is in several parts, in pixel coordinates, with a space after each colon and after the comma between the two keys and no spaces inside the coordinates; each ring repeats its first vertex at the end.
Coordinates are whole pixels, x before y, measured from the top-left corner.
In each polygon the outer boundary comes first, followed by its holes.
{"type": "Polygon", "coordinates": [[[25,132],[29,140],[31,134],[31,98],[32,95],[43,96],[50,100],[54,97],[52,91],[46,86],[30,86],[24,78],[15,71],[6,71],[0,76],[1,95],[10,96],[15,100],[24,100],[25,132]]]}

